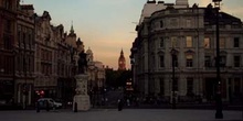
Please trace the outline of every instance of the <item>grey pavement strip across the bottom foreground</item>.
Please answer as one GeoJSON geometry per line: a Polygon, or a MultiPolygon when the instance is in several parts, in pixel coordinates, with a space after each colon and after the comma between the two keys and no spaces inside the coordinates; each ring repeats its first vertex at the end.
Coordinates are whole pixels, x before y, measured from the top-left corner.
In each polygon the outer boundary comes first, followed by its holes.
{"type": "Polygon", "coordinates": [[[242,111],[223,111],[223,119],[214,118],[215,110],[194,109],[91,109],[73,112],[11,110],[0,111],[1,121],[243,121],[242,111]]]}

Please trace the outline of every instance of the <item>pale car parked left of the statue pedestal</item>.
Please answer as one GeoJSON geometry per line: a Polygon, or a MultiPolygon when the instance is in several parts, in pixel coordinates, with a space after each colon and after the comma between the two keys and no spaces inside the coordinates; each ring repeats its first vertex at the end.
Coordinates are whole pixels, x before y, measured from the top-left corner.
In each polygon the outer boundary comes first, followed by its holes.
{"type": "Polygon", "coordinates": [[[62,106],[63,106],[61,102],[56,102],[52,98],[41,98],[41,99],[38,100],[39,108],[40,109],[45,109],[46,106],[47,106],[46,102],[49,103],[49,108],[51,108],[51,109],[62,108],[62,106]]]}

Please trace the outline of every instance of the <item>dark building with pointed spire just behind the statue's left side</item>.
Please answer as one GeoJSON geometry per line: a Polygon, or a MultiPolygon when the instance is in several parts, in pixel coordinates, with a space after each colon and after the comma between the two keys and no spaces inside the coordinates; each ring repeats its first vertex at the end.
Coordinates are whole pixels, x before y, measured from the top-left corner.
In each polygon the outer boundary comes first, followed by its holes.
{"type": "MultiPolygon", "coordinates": [[[[62,26],[62,25],[61,25],[62,26]]],[[[64,28],[56,28],[56,34],[54,36],[59,37],[57,50],[56,50],[56,69],[57,69],[57,92],[56,97],[62,99],[63,102],[72,101],[75,95],[75,79],[76,75],[76,62],[75,56],[77,56],[76,44],[73,45],[70,42],[76,42],[76,34],[74,33],[73,25],[66,35],[63,33],[64,28]],[[61,33],[60,33],[61,32],[61,33]],[[75,35],[75,36],[72,36],[75,35]],[[71,38],[72,37],[72,38],[71,38]]]]}

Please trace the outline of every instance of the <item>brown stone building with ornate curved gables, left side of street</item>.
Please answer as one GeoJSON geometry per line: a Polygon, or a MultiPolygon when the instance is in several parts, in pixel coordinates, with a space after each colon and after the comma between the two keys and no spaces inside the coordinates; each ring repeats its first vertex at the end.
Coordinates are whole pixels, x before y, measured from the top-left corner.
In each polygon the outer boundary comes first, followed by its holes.
{"type": "Polygon", "coordinates": [[[51,20],[47,11],[35,16],[34,87],[36,92],[43,90],[45,97],[55,96],[57,85],[57,40],[51,20]]]}

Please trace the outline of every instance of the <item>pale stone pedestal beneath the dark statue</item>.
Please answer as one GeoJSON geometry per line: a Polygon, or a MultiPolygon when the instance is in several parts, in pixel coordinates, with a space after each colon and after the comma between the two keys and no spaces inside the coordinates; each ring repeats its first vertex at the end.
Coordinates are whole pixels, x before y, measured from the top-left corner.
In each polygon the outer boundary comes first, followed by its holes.
{"type": "Polygon", "coordinates": [[[75,76],[76,79],[76,95],[73,98],[73,110],[75,110],[75,103],[77,105],[77,111],[87,111],[91,109],[89,96],[87,95],[87,79],[86,74],[80,74],[75,76]]]}

